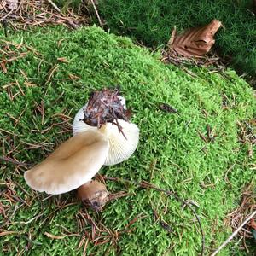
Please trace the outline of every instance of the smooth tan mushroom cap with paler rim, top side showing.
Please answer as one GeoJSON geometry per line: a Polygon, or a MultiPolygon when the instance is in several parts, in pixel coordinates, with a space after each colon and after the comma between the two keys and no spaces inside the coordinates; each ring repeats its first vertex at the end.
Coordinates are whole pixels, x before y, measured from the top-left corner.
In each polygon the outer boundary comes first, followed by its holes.
{"type": "Polygon", "coordinates": [[[99,131],[81,132],[24,174],[26,183],[39,192],[66,193],[90,181],[104,164],[109,143],[99,131]]]}

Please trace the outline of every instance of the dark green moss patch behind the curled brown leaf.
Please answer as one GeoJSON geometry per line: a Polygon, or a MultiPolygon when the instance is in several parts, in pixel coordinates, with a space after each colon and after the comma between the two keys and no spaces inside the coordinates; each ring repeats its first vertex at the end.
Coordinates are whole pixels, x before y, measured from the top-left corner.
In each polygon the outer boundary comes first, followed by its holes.
{"type": "Polygon", "coordinates": [[[256,77],[256,22],[250,0],[233,1],[99,1],[99,11],[111,32],[129,35],[149,47],[166,44],[177,32],[221,20],[215,48],[231,59],[240,73],[256,77]]]}

